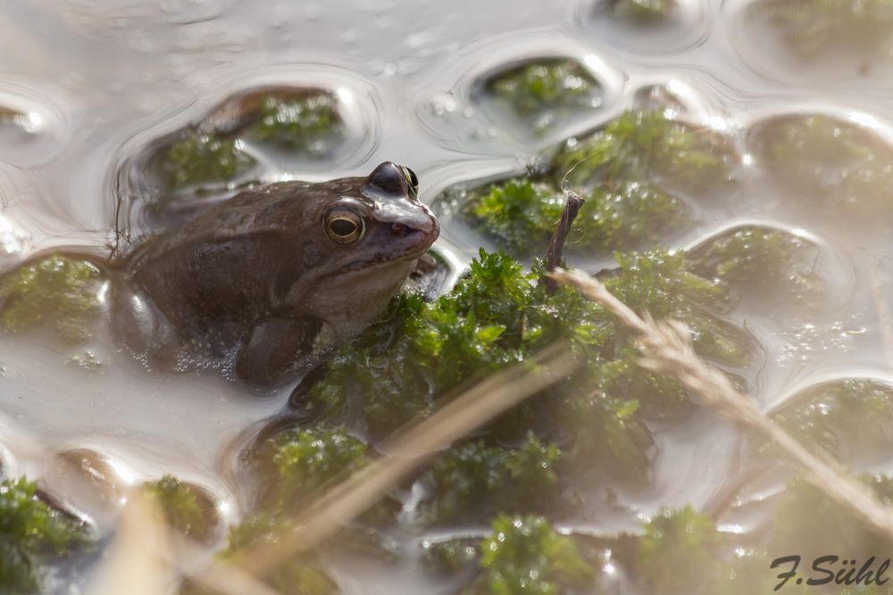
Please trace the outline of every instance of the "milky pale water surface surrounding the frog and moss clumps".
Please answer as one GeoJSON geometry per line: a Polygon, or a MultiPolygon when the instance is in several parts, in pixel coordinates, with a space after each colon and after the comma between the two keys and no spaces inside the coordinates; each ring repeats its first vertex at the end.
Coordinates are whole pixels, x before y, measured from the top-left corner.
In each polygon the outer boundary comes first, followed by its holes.
{"type": "MultiPolygon", "coordinates": [[[[804,66],[772,29],[748,21],[748,6],[692,0],[669,24],[640,29],[615,26],[580,0],[8,0],[0,6],[0,107],[16,115],[0,119],[0,266],[56,247],[104,254],[151,231],[134,163],[157,139],[256,87],[330,89],[348,130],[348,142],[326,159],[266,159],[261,180],[364,175],[396,161],[419,173],[429,203],[456,183],[522,171],[544,148],[613,119],[656,87],[742,156],[742,183],[697,202],[697,224],[666,244],[694,246],[729,227],[763,224],[818,246],[827,280],[821,311],[792,315],[745,300],[730,314],[764,350],[747,378],[757,399],[770,408],[835,377],[893,382],[882,307],[893,295],[893,213],[866,222],[804,209],[772,181],[755,148],[761,122],[800,112],[853,121],[891,142],[882,73],[893,60],[837,56],[804,66]],[[494,69],[562,55],[579,59],[601,86],[597,106],[580,118],[532,136],[477,101],[476,84],[494,69]]],[[[479,245],[487,243],[445,219],[438,248],[455,270],[479,245]]],[[[607,260],[577,264],[597,270],[607,260]]],[[[102,336],[72,352],[7,336],[0,366],[4,468],[43,477],[105,528],[121,502],[71,490],[50,454],[92,450],[124,484],[174,473],[204,486],[224,518],[238,520],[247,490],[234,457],[290,389],[257,399],[213,370],[147,371],[102,336]],[[65,363],[85,351],[98,369],[65,363]]],[[[709,507],[742,481],[741,436],[711,414],[658,428],[656,437],[653,485],[627,494],[625,513],[594,510],[578,528],[606,534],[634,528],[662,505],[709,507]]],[[[409,590],[413,580],[346,574],[349,592],[409,590]]]]}

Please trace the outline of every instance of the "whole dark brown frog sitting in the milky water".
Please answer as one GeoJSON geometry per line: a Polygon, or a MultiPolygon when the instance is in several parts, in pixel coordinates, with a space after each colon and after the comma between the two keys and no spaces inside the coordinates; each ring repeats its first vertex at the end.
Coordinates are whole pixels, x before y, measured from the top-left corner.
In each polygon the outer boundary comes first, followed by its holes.
{"type": "Polygon", "coordinates": [[[417,184],[385,162],[366,178],[261,186],[149,238],[113,299],[121,338],[161,367],[237,350],[240,378],[279,384],[377,318],[437,239],[417,184]]]}

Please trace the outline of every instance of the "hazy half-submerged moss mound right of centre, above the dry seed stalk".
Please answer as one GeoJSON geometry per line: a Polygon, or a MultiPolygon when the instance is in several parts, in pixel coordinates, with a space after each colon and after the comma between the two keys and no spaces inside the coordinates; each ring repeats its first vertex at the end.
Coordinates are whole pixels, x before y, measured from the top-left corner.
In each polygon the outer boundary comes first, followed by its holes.
{"type": "Polygon", "coordinates": [[[739,291],[775,293],[807,302],[819,291],[816,246],[781,229],[747,226],[730,230],[688,254],[691,269],[739,291]]]}

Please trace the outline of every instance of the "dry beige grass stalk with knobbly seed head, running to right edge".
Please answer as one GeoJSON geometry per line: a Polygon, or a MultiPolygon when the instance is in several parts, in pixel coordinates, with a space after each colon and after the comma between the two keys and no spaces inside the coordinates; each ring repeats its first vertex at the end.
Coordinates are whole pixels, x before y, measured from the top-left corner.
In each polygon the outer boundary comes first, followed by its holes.
{"type": "Polygon", "coordinates": [[[679,378],[702,404],[722,412],[732,421],[769,438],[803,467],[807,478],[831,499],[893,540],[893,510],[883,504],[867,485],[849,475],[830,457],[807,450],[803,444],[773,423],[757,406],[755,399],[739,393],[716,368],[700,359],[691,345],[688,328],[679,321],[655,321],[636,312],[613,296],[597,279],[580,271],[556,271],[555,280],[580,288],[589,299],[601,302],[624,325],[638,332],[639,349],[647,369],[679,378]]]}

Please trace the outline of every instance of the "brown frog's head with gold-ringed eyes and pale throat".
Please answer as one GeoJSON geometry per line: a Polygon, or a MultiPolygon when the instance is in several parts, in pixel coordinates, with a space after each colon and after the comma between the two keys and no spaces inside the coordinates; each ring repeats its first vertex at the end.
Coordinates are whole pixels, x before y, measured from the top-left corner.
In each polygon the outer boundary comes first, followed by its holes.
{"type": "Polygon", "coordinates": [[[313,239],[304,247],[303,278],[289,301],[303,301],[322,318],[352,308],[352,319],[368,321],[434,244],[438,220],[419,202],[413,170],[389,161],[365,178],[327,184],[314,209],[313,239]]]}

